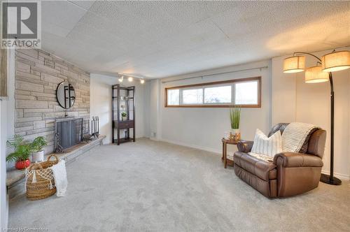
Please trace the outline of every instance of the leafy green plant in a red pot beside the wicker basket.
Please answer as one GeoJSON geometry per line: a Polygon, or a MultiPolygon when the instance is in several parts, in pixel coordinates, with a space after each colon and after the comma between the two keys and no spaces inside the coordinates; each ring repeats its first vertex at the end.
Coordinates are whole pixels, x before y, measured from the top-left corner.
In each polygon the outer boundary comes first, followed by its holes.
{"type": "Polygon", "coordinates": [[[13,148],[14,152],[6,157],[6,161],[15,161],[15,168],[21,170],[29,167],[29,155],[31,153],[31,144],[25,143],[22,136],[15,134],[12,139],[7,141],[7,147],[13,148]]]}

